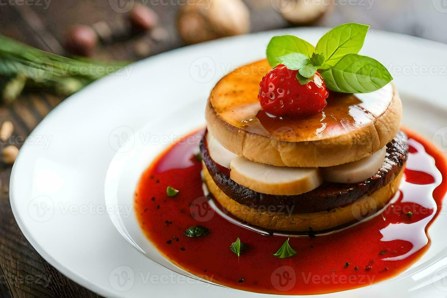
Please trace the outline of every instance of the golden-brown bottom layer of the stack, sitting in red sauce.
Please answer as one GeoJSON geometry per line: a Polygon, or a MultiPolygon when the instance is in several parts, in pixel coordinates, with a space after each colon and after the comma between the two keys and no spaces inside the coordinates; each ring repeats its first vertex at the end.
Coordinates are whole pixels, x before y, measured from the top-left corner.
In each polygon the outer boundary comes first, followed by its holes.
{"type": "MultiPolygon", "coordinates": [[[[381,210],[393,197],[397,189],[399,189],[404,168],[405,165],[401,172],[389,184],[376,190],[368,197],[359,198],[352,204],[334,208],[329,211],[291,215],[256,210],[255,208],[241,205],[232,200],[224,194],[219,187],[217,187],[205,165],[203,165],[203,176],[209,191],[220,205],[245,222],[269,230],[309,231],[309,228],[312,228],[313,231],[322,231],[338,227],[347,222],[363,219],[359,212],[366,212],[365,210],[370,210],[371,207],[374,211],[381,210]],[[364,206],[364,208],[359,207],[358,204],[364,206]]],[[[284,211],[286,212],[286,210],[284,211]]],[[[372,213],[373,212],[370,212],[368,215],[371,215],[372,213]]]]}

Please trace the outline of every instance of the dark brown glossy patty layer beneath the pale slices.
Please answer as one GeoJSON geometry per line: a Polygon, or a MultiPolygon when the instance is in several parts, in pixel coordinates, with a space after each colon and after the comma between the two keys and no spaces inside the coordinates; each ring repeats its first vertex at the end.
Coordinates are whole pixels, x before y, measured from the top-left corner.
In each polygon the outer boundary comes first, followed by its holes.
{"type": "Polygon", "coordinates": [[[291,210],[292,213],[311,213],[345,206],[360,197],[368,196],[391,182],[402,170],[408,158],[408,138],[399,131],[387,144],[384,163],[374,176],[364,182],[342,184],[323,182],[318,188],[307,193],[293,196],[278,196],[258,193],[230,179],[229,170],[216,164],[208,153],[205,137],[200,143],[202,159],[215,184],[228,197],[242,205],[257,207],[268,206],[267,210],[291,210]]]}

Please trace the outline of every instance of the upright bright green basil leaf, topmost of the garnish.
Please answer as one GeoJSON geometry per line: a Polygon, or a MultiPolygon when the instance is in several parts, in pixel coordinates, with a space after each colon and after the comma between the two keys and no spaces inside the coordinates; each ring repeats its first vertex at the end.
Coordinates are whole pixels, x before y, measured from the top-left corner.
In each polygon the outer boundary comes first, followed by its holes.
{"type": "Polygon", "coordinates": [[[316,53],[322,53],[326,57],[321,69],[334,66],[343,55],[357,54],[363,46],[368,28],[368,25],[348,23],[323,35],[315,47],[316,53]]]}

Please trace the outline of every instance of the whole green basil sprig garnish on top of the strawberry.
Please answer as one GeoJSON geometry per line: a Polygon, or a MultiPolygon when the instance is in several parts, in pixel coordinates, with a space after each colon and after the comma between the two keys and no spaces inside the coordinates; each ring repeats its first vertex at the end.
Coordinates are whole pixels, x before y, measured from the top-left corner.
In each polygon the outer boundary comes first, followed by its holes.
{"type": "Polygon", "coordinates": [[[275,36],[267,46],[267,60],[272,67],[284,64],[298,70],[300,84],[312,80],[316,71],[333,91],[368,93],[392,80],[380,62],[358,55],[369,26],[348,23],[329,30],[316,46],[292,35],[275,36]]]}

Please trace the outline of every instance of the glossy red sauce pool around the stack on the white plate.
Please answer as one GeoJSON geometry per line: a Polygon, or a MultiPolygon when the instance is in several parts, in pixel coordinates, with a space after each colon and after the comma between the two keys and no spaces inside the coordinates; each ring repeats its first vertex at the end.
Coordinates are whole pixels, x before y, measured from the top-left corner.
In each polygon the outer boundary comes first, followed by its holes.
{"type": "MultiPolygon", "coordinates": [[[[433,192],[438,213],[447,191],[446,159],[430,141],[409,129],[404,131],[425,147],[442,174],[442,182],[433,192]]],[[[171,262],[196,276],[258,293],[331,293],[394,277],[416,262],[430,246],[429,240],[403,260],[383,260],[409,252],[413,244],[405,240],[381,241],[381,229],[391,223],[420,221],[434,211],[402,202],[401,193],[382,215],[368,222],[329,235],[290,238],[289,244],[297,254],[279,259],[273,254],[287,237],[262,235],[218,214],[196,214],[198,209],[193,202],[203,197],[203,191],[202,164],[194,158],[194,151],[202,134],[203,131],[194,132],[186,138],[188,142],[182,139],[162,153],[143,173],[135,193],[135,214],[145,235],[171,262]],[[168,197],[167,186],[180,192],[168,197]],[[183,235],[188,227],[197,225],[207,227],[211,233],[196,238],[183,235]],[[239,258],[230,250],[237,237],[247,243],[239,258]]],[[[412,147],[410,154],[415,153],[417,150],[412,147]]],[[[426,172],[405,170],[405,176],[409,183],[434,183],[434,177],[426,172]]]]}

